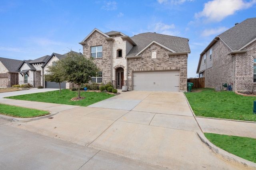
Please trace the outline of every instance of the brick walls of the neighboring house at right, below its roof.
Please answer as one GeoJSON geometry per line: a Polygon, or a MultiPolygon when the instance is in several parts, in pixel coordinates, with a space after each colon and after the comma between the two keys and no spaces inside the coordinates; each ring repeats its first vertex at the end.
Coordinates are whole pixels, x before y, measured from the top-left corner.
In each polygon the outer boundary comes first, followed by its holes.
{"type": "Polygon", "coordinates": [[[206,88],[216,88],[222,83],[232,84],[235,91],[246,91],[253,82],[253,59],[256,58],[256,41],[245,47],[248,52],[228,55],[231,50],[221,40],[212,45],[212,67],[203,72],[206,88]],[[219,47],[218,47],[219,43],[219,47]],[[219,51],[219,52],[218,52],[219,51]]]}

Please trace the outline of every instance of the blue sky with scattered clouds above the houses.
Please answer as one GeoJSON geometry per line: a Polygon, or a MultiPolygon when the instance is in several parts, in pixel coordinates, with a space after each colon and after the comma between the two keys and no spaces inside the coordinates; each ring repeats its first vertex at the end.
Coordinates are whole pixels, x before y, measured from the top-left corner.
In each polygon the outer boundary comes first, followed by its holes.
{"type": "Polygon", "coordinates": [[[188,77],[220,33],[256,17],[256,0],[1,0],[0,57],[37,59],[72,49],[94,28],[130,37],[156,32],[188,38],[188,77]]]}

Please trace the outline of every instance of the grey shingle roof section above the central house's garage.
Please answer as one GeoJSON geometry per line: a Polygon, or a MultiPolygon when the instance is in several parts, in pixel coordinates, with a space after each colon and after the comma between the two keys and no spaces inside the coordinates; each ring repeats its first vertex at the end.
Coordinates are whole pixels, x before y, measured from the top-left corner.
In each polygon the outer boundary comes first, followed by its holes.
{"type": "Polygon", "coordinates": [[[157,43],[158,45],[168,49],[171,52],[187,52],[190,53],[190,47],[188,45],[188,39],[182,37],[175,37],[171,35],[164,35],[158,33],[140,33],[130,37],[135,43],[127,57],[139,55],[146,47],[152,43],[157,43]]]}

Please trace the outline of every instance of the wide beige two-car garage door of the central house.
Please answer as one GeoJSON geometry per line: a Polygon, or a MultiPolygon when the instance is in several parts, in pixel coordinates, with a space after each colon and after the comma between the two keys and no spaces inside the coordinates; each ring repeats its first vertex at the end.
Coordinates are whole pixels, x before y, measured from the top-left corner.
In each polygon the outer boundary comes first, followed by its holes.
{"type": "Polygon", "coordinates": [[[133,90],[178,92],[180,71],[133,72],[133,90]]]}

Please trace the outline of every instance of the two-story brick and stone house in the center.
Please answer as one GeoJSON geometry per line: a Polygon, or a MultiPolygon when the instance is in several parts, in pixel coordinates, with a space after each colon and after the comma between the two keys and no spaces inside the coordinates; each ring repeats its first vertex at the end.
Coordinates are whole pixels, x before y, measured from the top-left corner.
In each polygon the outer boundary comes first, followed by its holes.
{"type": "Polygon", "coordinates": [[[80,44],[100,69],[92,82],[128,90],[187,90],[187,38],[150,32],[129,37],[94,29],[80,44]]]}

